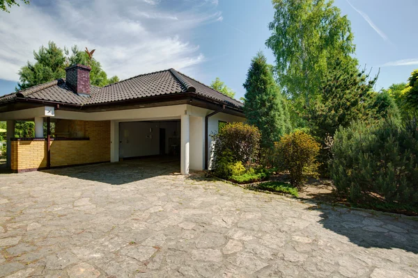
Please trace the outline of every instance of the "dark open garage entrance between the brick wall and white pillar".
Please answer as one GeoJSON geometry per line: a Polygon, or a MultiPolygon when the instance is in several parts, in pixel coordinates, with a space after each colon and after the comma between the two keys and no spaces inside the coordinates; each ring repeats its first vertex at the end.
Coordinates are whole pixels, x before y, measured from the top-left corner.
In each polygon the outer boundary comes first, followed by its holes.
{"type": "Polygon", "coordinates": [[[119,123],[119,160],[135,158],[180,167],[180,120],[119,123]]]}

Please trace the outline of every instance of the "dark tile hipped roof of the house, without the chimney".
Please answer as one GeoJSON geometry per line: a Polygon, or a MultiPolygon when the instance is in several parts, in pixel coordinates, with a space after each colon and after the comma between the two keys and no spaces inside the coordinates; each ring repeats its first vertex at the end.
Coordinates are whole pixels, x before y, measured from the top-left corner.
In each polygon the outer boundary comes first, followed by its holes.
{"type": "Polygon", "coordinates": [[[207,85],[173,69],[141,74],[104,86],[103,88],[92,85],[90,96],[78,95],[65,84],[64,79],[57,79],[0,97],[0,103],[16,98],[26,98],[84,106],[88,104],[105,104],[114,101],[140,99],[142,97],[171,95],[181,92],[196,93],[196,95],[201,95],[201,97],[207,99],[221,101],[224,104],[242,108],[240,101],[231,99],[221,92],[217,92],[207,85]]]}

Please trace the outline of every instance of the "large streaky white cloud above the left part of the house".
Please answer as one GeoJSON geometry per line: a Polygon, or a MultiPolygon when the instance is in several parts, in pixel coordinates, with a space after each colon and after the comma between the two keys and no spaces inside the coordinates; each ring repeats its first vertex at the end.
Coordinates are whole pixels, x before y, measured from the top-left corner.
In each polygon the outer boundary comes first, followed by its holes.
{"type": "Polygon", "coordinates": [[[159,0],[59,0],[49,6],[21,5],[0,17],[0,79],[17,81],[17,72],[33,50],[49,40],[59,47],[77,44],[96,49],[95,58],[109,74],[126,79],[174,67],[189,71],[206,58],[189,33],[222,20],[217,1],[187,1],[176,11],[159,0]],[[211,9],[204,6],[209,4],[211,9]],[[202,8],[201,8],[202,7],[202,8]],[[209,10],[209,11],[208,11],[209,10]]]}

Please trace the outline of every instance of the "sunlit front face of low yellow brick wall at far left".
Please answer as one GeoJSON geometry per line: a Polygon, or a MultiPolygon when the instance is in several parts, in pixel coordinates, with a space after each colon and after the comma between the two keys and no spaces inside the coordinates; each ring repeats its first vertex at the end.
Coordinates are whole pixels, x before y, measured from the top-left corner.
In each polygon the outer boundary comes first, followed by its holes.
{"type": "Polygon", "coordinates": [[[47,167],[47,142],[12,141],[12,170],[33,170],[47,167]]]}

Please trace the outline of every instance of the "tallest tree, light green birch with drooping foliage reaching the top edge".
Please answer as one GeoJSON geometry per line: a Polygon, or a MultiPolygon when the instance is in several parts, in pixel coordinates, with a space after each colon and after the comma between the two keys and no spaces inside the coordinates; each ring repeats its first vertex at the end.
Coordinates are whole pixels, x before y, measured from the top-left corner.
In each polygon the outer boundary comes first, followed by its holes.
{"type": "Polygon", "coordinates": [[[328,61],[336,58],[356,67],[353,33],[333,0],[273,0],[272,34],[266,41],[276,57],[277,79],[299,105],[309,106],[320,92],[328,61]]]}

